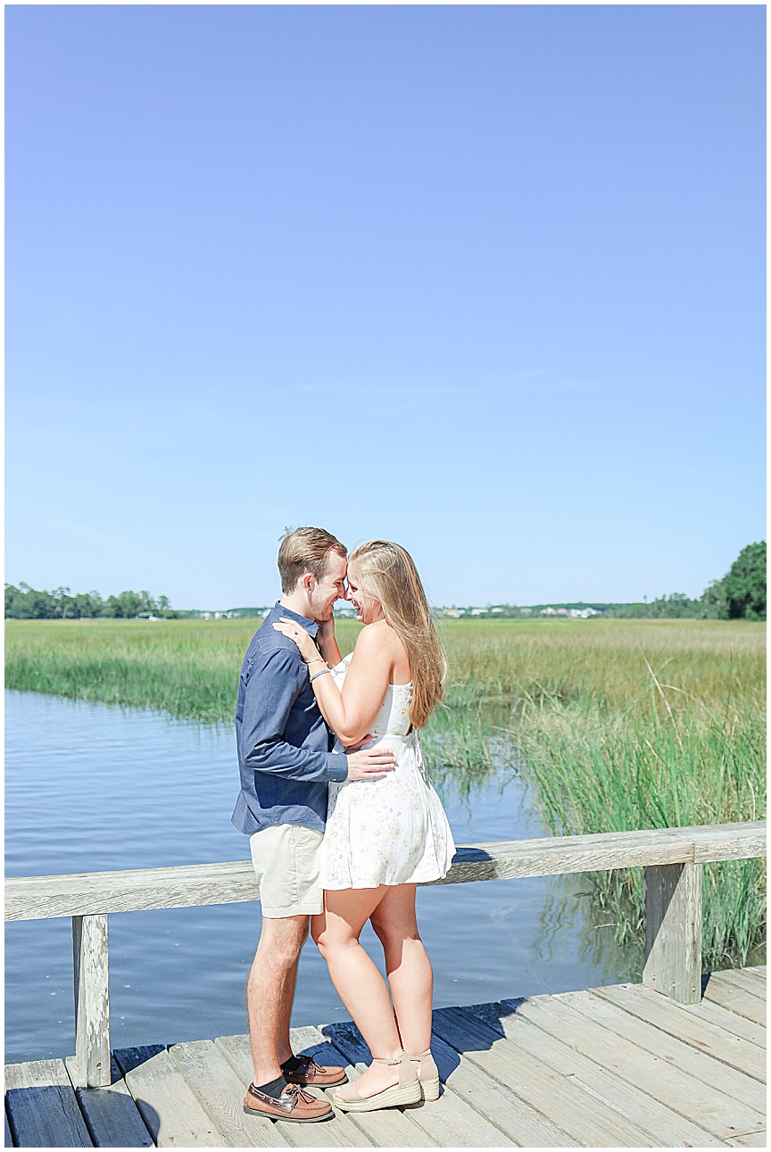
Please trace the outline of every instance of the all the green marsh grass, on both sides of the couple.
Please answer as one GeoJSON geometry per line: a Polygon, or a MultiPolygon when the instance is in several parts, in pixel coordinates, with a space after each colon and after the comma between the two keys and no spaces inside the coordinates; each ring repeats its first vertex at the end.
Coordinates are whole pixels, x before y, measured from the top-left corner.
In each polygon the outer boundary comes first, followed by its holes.
{"type": "MultiPolygon", "coordinates": [[[[256,621],[8,621],[9,688],[226,722],[256,621]]],[[[358,626],[341,621],[342,652],[358,626]]],[[[470,795],[521,771],[553,832],[718,824],[765,814],[764,626],[743,621],[448,621],[446,705],[425,732],[438,779],[470,795]]],[[[705,870],[706,968],[765,939],[759,861],[705,870]]],[[[591,876],[641,947],[637,871],[591,876]]]]}

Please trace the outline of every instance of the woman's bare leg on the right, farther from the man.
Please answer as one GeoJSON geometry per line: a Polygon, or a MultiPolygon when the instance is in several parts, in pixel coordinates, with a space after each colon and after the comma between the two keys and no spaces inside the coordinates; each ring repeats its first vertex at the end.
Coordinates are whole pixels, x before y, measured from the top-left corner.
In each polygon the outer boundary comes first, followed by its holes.
{"type": "Polygon", "coordinates": [[[402,1045],[411,1056],[418,1055],[431,1045],[433,970],[417,931],[415,885],[387,888],[371,920],[385,950],[402,1045]]]}

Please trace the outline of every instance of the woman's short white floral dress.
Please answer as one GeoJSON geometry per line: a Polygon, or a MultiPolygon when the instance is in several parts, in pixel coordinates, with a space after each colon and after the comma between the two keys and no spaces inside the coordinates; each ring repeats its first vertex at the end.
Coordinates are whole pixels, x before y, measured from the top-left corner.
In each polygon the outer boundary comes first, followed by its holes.
{"type": "MultiPolygon", "coordinates": [[[[350,657],[332,670],[342,688],[350,657]]],[[[391,684],[365,746],[393,749],[396,767],[381,780],[330,785],[322,846],[323,888],[423,884],[447,874],[455,843],[423,764],[421,737],[409,732],[413,685],[391,684]]]]}

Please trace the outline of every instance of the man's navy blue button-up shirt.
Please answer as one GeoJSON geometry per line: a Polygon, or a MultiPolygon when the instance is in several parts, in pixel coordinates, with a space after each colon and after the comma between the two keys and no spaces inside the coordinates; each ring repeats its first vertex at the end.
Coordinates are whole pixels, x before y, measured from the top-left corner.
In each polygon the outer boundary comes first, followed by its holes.
{"type": "Polygon", "coordinates": [[[250,836],[277,824],[324,832],[331,780],[348,760],[318,710],[308,668],[294,641],[272,627],[281,616],[316,637],[318,624],[277,604],[251,638],[241,667],[235,733],[241,793],[233,823],[250,836]]]}

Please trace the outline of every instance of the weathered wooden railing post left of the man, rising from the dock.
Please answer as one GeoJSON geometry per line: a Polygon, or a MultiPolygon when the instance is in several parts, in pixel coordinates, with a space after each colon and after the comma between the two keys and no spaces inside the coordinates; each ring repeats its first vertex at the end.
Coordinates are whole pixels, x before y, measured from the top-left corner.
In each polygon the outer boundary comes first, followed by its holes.
{"type": "Polygon", "coordinates": [[[73,916],[75,1059],[84,1087],[111,1083],[107,916],[73,916]]]}

